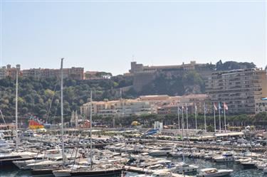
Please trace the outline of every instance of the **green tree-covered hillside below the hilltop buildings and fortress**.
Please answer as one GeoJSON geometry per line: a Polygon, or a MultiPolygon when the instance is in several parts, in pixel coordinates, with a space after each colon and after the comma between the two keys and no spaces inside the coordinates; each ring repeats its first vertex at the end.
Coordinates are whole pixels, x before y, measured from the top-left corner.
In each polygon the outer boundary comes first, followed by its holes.
{"type": "MultiPolygon", "coordinates": [[[[255,67],[253,63],[217,63],[211,65],[214,70],[255,67]],[[232,63],[232,64],[231,64],[232,63]]],[[[122,97],[135,98],[140,95],[186,95],[204,93],[205,85],[201,76],[194,72],[182,75],[166,75],[158,73],[156,79],[147,84],[140,92],[132,87],[132,77],[117,75],[106,80],[64,80],[64,114],[70,115],[73,110],[80,110],[80,105],[88,102],[90,90],[93,100],[115,100],[122,97]],[[127,88],[127,89],[125,89],[127,88]]],[[[19,77],[19,116],[28,117],[34,114],[42,119],[60,115],[60,82],[56,78],[35,79],[19,77]]],[[[6,118],[14,117],[15,112],[15,80],[10,77],[0,80],[0,109],[6,118]]]]}

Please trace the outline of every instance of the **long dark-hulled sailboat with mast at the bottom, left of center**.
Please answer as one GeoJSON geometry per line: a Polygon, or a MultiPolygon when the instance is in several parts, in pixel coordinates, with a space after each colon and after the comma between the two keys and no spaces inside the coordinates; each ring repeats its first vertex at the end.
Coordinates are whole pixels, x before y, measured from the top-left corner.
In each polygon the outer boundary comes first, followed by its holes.
{"type": "Polygon", "coordinates": [[[98,163],[93,166],[92,151],[92,91],[90,92],[90,166],[79,166],[73,164],[66,169],[54,170],[53,175],[56,177],[65,176],[114,176],[122,173],[122,166],[113,163],[98,163]]]}

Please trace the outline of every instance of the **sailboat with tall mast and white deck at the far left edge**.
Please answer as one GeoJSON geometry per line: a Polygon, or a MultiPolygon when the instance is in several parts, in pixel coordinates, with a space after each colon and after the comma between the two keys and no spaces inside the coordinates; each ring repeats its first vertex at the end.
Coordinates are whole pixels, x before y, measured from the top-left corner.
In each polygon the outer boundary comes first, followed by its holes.
{"type": "MultiPolygon", "coordinates": [[[[36,153],[30,151],[19,152],[19,135],[18,135],[18,70],[16,70],[16,147],[15,151],[4,152],[0,154],[0,166],[13,164],[12,161],[33,159],[36,153]]],[[[4,139],[4,138],[3,138],[4,139]]],[[[2,141],[4,141],[2,139],[2,141]]]]}

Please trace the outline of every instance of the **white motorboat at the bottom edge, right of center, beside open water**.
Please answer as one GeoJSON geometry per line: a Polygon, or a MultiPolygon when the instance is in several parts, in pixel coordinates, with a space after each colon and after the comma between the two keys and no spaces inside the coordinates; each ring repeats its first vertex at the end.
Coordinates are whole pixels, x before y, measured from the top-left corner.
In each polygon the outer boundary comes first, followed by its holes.
{"type": "Polygon", "coordinates": [[[226,170],[226,169],[218,170],[217,168],[204,168],[204,169],[199,170],[197,177],[226,176],[226,175],[231,174],[231,172],[233,172],[233,170],[226,170]]]}

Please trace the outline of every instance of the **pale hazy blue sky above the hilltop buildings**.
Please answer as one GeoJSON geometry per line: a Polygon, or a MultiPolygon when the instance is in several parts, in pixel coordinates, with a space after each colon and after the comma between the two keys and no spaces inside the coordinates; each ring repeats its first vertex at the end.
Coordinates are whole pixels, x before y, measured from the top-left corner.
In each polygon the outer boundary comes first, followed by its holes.
{"type": "Polygon", "coordinates": [[[144,65],[266,65],[266,3],[1,0],[2,65],[121,74],[144,65]]]}

